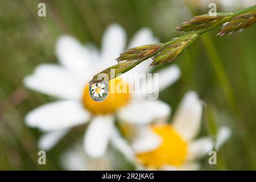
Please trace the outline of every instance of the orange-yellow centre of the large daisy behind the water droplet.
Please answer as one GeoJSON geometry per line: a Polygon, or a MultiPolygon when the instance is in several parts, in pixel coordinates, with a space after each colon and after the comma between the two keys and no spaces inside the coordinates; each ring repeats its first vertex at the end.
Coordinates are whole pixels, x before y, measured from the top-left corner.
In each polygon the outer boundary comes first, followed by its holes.
{"type": "MultiPolygon", "coordinates": [[[[125,106],[130,99],[129,86],[120,78],[115,78],[109,81],[109,88],[115,88],[115,92],[109,92],[109,96],[102,102],[94,101],[89,95],[89,85],[85,86],[82,103],[85,109],[93,114],[110,114],[114,113],[117,109],[125,106]],[[122,90],[122,92],[118,92],[122,90]]],[[[96,93],[101,92],[101,87],[98,86],[95,90],[96,93]]]]}

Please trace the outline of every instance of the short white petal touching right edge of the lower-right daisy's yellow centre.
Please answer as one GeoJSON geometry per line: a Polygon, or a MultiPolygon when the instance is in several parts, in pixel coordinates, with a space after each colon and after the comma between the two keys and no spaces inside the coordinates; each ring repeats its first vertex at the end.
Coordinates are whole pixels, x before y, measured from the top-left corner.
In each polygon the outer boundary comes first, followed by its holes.
{"type": "Polygon", "coordinates": [[[210,137],[204,137],[192,141],[188,146],[188,160],[203,158],[209,151],[213,150],[213,141],[210,137]]]}

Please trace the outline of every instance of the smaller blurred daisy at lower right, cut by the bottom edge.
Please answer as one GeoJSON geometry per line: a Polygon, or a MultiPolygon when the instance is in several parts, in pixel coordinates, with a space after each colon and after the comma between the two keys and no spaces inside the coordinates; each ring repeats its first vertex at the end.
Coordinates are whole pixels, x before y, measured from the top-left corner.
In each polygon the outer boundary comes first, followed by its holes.
{"type": "Polygon", "coordinates": [[[197,170],[200,164],[196,160],[213,149],[218,150],[231,135],[228,127],[221,127],[215,141],[211,137],[195,139],[200,131],[202,110],[197,93],[188,92],[172,123],[142,126],[131,147],[117,134],[113,144],[138,169],[197,170]]]}

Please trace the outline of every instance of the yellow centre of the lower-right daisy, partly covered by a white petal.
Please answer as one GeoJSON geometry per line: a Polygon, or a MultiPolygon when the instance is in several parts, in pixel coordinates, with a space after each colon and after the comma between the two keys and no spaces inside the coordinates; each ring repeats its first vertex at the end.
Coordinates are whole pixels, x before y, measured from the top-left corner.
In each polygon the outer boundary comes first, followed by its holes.
{"type": "Polygon", "coordinates": [[[137,154],[139,161],[153,168],[183,164],[187,156],[187,143],[175,129],[170,125],[154,125],[152,129],[162,138],[162,144],[154,151],[137,154]]]}

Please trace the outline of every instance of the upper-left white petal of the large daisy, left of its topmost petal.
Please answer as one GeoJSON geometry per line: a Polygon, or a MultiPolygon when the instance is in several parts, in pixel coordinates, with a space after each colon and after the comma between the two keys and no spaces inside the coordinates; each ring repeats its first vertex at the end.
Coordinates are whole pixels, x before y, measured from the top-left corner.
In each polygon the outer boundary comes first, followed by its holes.
{"type": "Polygon", "coordinates": [[[81,80],[92,76],[89,50],[72,36],[64,35],[57,40],[56,55],[60,63],[81,80]]]}

